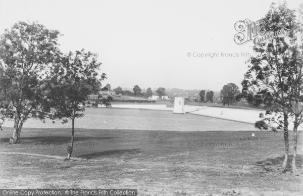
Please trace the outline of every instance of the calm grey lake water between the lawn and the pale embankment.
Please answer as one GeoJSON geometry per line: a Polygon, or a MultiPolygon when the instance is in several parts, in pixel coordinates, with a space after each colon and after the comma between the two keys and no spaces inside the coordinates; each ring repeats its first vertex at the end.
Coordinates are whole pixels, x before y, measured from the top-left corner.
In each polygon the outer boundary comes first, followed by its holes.
{"type": "MultiPolygon", "coordinates": [[[[173,114],[172,111],[86,108],[85,116],[75,121],[75,128],[85,129],[135,129],[167,131],[220,131],[256,130],[254,125],[197,116],[192,114],[173,114]]],[[[4,123],[13,127],[13,122],[4,123]]],[[[29,128],[71,128],[71,123],[61,121],[29,119],[23,127],[29,128]]]]}

